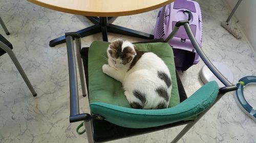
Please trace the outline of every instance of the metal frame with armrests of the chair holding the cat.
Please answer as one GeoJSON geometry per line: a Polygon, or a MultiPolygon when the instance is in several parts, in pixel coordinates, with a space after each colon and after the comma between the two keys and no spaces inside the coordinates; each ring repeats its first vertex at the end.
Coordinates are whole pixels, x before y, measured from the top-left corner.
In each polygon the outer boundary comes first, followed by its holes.
{"type": "MultiPolygon", "coordinates": [[[[176,124],[172,123],[172,125],[167,125],[167,128],[174,127],[174,126],[180,126],[187,124],[182,131],[173,139],[172,143],[177,142],[191,127],[193,127],[204,115],[205,113],[214,106],[215,103],[221,99],[225,93],[230,91],[237,90],[237,86],[231,84],[217,69],[212,63],[209,61],[203,50],[200,48],[199,44],[196,41],[196,38],[194,37],[193,33],[191,32],[189,21],[188,20],[182,20],[176,23],[174,31],[169,35],[169,37],[165,40],[165,42],[168,42],[172,37],[175,35],[175,33],[178,31],[180,26],[184,26],[186,33],[188,34],[188,37],[195,47],[196,51],[198,52],[199,56],[203,60],[203,62],[206,64],[206,66],[214,73],[218,79],[222,81],[222,83],[225,85],[225,87],[219,89],[219,93],[217,96],[217,99],[215,102],[206,110],[201,112],[198,115],[198,118],[196,120],[189,120],[189,121],[182,121],[182,122],[176,122],[176,124]]],[[[70,80],[70,123],[83,121],[84,127],[86,128],[87,132],[87,138],[90,143],[97,142],[94,139],[94,129],[93,129],[93,123],[92,120],[95,119],[102,119],[101,116],[98,115],[90,115],[89,113],[79,113],[79,101],[78,101],[78,87],[77,87],[77,74],[76,74],[76,64],[75,64],[75,52],[74,52],[74,45],[73,45],[73,38],[75,38],[76,41],[76,55],[77,55],[77,62],[78,62],[78,69],[80,74],[80,81],[82,85],[82,95],[88,95],[87,92],[87,86],[84,81],[84,73],[82,71],[83,64],[81,61],[81,43],[80,38],[81,36],[77,33],[66,33],[66,44],[67,44],[67,53],[68,53],[68,64],[69,64],[69,80],[70,80]],[[83,83],[82,83],[83,82],[83,83]]],[[[161,129],[165,129],[166,127],[160,127],[160,128],[150,128],[148,130],[145,130],[144,132],[140,132],[139,134],[153,132],[161,129]]],[[[138,134],[136,134],[138,135],[138,134]]],[[[128,136],[124,136],[128,137],[128,136]]],[[[120,138],[120,137],[119,137],[120,138]]],[[[115,138],[115,139],[119,139],[115,138]]],[[[110,140],[103,140],[103,141],[110,141],[110,140]]]]}

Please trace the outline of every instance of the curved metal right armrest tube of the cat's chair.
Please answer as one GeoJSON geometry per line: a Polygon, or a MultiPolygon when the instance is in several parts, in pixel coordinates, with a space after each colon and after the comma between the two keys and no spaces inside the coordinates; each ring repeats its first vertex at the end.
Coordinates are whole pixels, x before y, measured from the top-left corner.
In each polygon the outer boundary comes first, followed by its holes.
{"type": "Polygon", "coordinates": [[[210,62],[208,57],[205,55],[201,47],[199,46],[195,36],[193,35],[190,26],[188,23],[184,23],[184,28],[186,30],[186,33],[193,44],[194,48],[196,49],[197,53],[199,54],[200,58],[203,60],[205,65],[211,70],[212,73],[226,86],[230,87],[233,86],[232,83],[230,83],[219,71],[218,69],[210,62]]]}

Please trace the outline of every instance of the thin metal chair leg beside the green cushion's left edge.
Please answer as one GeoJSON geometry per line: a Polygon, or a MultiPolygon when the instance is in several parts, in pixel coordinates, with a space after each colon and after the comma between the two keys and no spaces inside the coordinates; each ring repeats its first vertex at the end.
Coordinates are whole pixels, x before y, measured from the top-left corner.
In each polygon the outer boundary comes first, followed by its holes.
{"type": "Polygon", "coordinates": [[[86,81],[84,80],[84,72],[83,72],[83,64],[82,64],[82,58],[81,58],[81,39],[76,38],[76,59],[77,59],[77,66],[79,70],[80,75],[80,82],[82,87],[82,96],[86,97],[87,95],[87,85],[86,81]]]}

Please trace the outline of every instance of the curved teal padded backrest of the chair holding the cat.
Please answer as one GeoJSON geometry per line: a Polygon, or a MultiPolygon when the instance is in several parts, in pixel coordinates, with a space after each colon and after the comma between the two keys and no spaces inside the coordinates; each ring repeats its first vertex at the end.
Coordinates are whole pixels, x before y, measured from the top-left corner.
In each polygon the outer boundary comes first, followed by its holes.
{"type": "Polygon", "coordinates": [[[105,117],[107,121],[113,124],[128,128],[147,128],[187,120],[198,115],[215,101],[218,92],[218,83],[211,81],[172,108],[133,109],[102,102],[91,103],[90,108],[92,113],[105,117]]]}

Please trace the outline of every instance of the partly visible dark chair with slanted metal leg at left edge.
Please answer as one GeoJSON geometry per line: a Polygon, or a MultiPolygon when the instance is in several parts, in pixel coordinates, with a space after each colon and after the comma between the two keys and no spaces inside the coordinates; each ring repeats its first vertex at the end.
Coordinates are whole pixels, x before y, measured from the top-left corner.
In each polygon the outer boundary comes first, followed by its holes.
{"type": "Polygon", "coordinates": [[[7,39],[5,39],[4,36],[2,36],[0,34],[0,56],[5,54],[5,53],[8,53],[8,55],[10,56],[12,62],[16,66],[18,72],[20,73],[20,75],[22,75],[22,78],[26,82],[30,92],[35,97],[36,96],[36,92],[35,92],[34,88],[32,87],[32,84],[30,83],[30,81],[29,81],[26,73],[24,72],[22,66],[20,66],[20,64],[19,64],[15,54],[13,53],[12,49],[13,49],[12,44],[7,39]]]}

